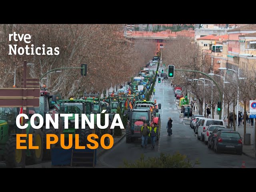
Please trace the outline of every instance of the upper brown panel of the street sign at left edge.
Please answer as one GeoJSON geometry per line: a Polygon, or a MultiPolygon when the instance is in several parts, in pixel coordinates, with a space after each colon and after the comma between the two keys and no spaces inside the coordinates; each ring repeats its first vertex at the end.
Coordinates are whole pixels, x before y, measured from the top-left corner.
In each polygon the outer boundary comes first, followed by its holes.
{"type": "MultiPolygon", "coordinates": [[[[27,97],[39,98],[39,88],[27,88],[27,97]]],[[[1,99],[23,99],[23,88],[0,88],[1,99]]]]}

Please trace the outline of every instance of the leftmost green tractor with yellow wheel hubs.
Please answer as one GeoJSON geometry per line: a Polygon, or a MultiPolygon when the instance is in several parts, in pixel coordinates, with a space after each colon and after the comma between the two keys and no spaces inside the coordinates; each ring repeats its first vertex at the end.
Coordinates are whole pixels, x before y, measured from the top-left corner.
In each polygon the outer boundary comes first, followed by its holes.
{"type": "MultiPolygon", "coordinates": [[[[35,111],[27,110],[29,118],[35,111]]],[[[43,157],[43,133],[41,129],[34,129],[30,125],[30,119],[27,121],[26,128],[26,157],[22,156],[22,150],[16,149],[16,134],[22,134],[22,129],[16,126],[16,117],[20,114],[20,108],[2,107],[0,108],[0,155],[9,168],[25,166],[26,164],[41,163],[43,157]],[[39,146],[39,149],[28,149],[28,134],[33,134],[33,146],[39,146]],[[26,158],[26,159],[24,159],[26,158]]],[[[39,120],[35,121],[38,125],[39,120]]],[[[22,144],[21,144],[22,145],[22,144]]]]}

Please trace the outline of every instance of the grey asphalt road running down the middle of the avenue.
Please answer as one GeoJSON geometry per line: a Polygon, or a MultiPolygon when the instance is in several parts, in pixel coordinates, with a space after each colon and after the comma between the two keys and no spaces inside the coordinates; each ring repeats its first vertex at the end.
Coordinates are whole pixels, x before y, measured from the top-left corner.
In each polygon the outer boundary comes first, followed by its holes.
{"type": "MultiPolygon", "coordinates": [[[[158,70],[161,71],[161,70],[158,70]]],[[[236,154],[216,154],[208,149],[207,145],[197,140],[194,131],[184,121],[181,124],[179,120],[179,110],[176,107],[174,91],[170,86],[170,80],[167,82],[156,82],[156,92],[154,99],[162,104],[160,140],[156,143],[155,149],[141,148],[140,140],[133,143],[126,143],[125,138],[114,148],[103,154],[98,159],[96,167],[118,168],[123,165],[124,160],[134,162],[139,159],[141,154],[147,157],[157,157],[160,153],[174,154],[180,152],[185,154],[192,162],[196,159],[200,164],[195,168],[240,168],[245,161],[246,168],[256,168],[256,160],[248,156],[236,154]],[[168,136],[166,125],[168,117],[173,122],[172,136],[168,136]]]]}

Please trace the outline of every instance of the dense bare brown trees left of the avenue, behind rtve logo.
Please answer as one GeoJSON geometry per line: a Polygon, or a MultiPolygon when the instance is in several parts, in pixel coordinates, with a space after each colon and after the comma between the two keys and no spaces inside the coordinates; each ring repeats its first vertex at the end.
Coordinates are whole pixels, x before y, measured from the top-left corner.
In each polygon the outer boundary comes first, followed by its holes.
{"type": "MultiPolygon", "coordinates": [[[[46,49],[47,50],[47,49],[46,49]]],[[[16,86],[20,86],[23,61],[31,78],[40,78],[54,68],[80,67],[87,64],[87,76],[80,70],[61,70],[47,76],[52,93],[64,97],[87,92],[102,92],[123,84],[138,73],[154,56],[152,41],[130,41],[124,37],[122,24],[2,24],[0,25],[0,87],[12,87],[16,71],[16,86]],[[31,43],[9,41],[9,34],[30,34],[31,43]],[[9,44],[25,47],[58,47],[59,55],[8,55],[9,44]]],[[[45,80],[40,82],[46,84],[45,80]]]]}

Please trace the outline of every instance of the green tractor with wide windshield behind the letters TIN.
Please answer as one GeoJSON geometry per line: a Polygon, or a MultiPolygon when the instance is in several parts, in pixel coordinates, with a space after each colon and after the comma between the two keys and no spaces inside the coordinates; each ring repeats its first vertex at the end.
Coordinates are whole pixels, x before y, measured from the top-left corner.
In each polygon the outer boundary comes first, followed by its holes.
{"type": "MultiPolygon", "coordinates": [[[[73,138],[75,134],[79,134],[79,145],[86,146],[88,144],[87,136],[92,134],[93,131],[90,129],[88,124],[86,124],[85,129],[82,129],[81,116],[82,114],[86,114],[88,119],[90,120],[90,114],[93,111],[94,104],[93,102],[86,102],[86,100],[75,100],[74,98],[70,98],[70,100],[61,100],[59,101],[60,112],[62,114],[72,114],[72,117],[68,117],[68,129],[63,130],[65,143],[68,140],[68,134],[72,134],[73,138]],[[79,114],[79,128],[75,129],[75,114],[79,114]]],[[[73,139],[74,142],[74,139],[73,139]]]]}

